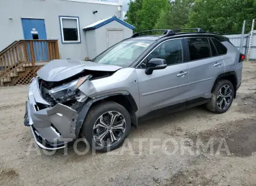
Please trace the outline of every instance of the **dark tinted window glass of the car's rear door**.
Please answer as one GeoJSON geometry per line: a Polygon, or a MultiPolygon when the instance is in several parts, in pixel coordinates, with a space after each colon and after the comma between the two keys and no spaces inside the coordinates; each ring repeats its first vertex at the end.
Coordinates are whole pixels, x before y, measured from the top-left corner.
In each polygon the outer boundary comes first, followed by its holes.
{"type": "Polygon", "coordinates": [[[188,47],[191,61],[211,56],[208,38],[189,38],[188,47]]]}

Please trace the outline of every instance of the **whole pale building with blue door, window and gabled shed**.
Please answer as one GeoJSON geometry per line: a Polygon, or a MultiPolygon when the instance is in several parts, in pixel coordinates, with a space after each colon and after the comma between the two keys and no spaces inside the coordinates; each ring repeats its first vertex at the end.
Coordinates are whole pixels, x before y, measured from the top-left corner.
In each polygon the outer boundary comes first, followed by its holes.
{"type": "Polygon", "coordinates": [[[122,0],[1,0],[0,51],[15,40],[57,39],[61,59],[92,59],[132,35],[120,18],[122,0]]]}

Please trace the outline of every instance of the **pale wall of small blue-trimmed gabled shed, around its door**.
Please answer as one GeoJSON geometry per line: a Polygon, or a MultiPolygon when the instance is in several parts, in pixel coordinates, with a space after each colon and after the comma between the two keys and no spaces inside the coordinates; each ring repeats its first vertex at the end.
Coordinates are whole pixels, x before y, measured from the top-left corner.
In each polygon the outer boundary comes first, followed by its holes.
{"type": "Polygon", "coordinates": [[[129,38],[131,35],[133,35],[133,30],[130,28],[124,26],[121,23],[118,23],[117,21],[110,22],[108,24],[105,24],[104,26],[97,28],[95,30],[96,32],[96,46],[97,46],[97,55],[101,52],[105,51],[106,48],[108,48],[107,44],[107,30],[108,29],[122,29],[123,30],[123,39],[129,38]]]}

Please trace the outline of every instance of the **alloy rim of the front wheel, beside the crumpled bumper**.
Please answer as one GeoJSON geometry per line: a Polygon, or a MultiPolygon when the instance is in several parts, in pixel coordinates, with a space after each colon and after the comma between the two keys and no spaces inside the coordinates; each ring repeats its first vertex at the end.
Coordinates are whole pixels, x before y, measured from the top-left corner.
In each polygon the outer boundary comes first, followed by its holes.
{"type": "Polygon", "coordinates": [[[112,146],[125,135],[125,117],[118,111],[101,114],[93,125],[93,139],[100,146],[112,146]]]}

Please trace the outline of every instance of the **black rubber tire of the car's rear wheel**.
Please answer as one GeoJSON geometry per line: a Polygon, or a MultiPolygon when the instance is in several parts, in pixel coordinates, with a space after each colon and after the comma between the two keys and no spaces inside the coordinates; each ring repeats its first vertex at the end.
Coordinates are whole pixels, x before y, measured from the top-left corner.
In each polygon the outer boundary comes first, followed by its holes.
{"type": "Polygon", "coordinates": [[[216,114],[225,113],[232,105],[232,102],[234,100],[234,93],[235,93],[235,90],[234,90],[234,86],[233,86],[232,82],[230,82],[229,80],[218,81],[217,84],[213,88],[212,98],[210,99],[210,102],[208,102],[208,104],[207,104],[207,109],[216,114]],[[222,93],[224,93],[223,90],[225,90],[227,87],[229,87],[231,90],[231,97],[225,97],[225,99],[223,99],[222,96],[218,97],[218,93],[220,91],[222,93]],[[230,100],[229,100],[229,98],[230,98],[230,100]],[[221,99],[222,99],[222,104],[220,105],[221,99]],[[223,106],[223,105],[225,105],[225,101],[228,103],[227,106],[223,106]],[[219,104],[217,104],[217,102],[219,104]],[[223,106],[223,108],[222,108],[222,106],[223,106]]]}

